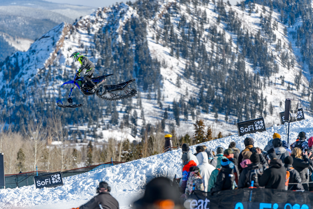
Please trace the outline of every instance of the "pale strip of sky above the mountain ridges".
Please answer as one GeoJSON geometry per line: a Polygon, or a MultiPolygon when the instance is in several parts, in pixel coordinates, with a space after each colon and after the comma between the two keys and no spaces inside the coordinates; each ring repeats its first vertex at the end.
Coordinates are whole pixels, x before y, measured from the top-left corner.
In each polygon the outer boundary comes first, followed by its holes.
{"type": "MultiPolygon", "coordinates": [[[[54,3],[67,3],[67,4],[74,4],[74,5],[83,5],[83,6],[90,6],[90,7],[107,7],[112,4],[115,4],[116,2],[120,2],[119,0],[46,0],[48,2],[54,2],[54,3]]],[[[129,0],[126,0],[129,1],[129,0]]],[[[126,1],[123,1],[124,3],[126,1]]],[[[135,0],[131,0],[134,2],[135,0]]],[[[236,4],[236,2],[240,0],[229,0],[231,4],[236,4]]],[[[227,2],[227,0],[224,0],[224,2],[227,2]]]]}

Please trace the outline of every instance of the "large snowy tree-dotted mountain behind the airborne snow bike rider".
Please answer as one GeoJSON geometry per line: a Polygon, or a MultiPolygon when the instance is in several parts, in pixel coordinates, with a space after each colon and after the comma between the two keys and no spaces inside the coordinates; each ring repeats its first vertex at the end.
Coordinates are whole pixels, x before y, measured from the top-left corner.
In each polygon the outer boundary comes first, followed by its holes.
{"type": "Polygon", "coordinates": [[[214,137],[261,116],[269,127],[280,124],[286,98],[299,100],[308,118],[311,75],[295,40],[301,24],[297,17],[289,26],[278,9],[259,4],[160,0],[98,8],[10,56],[0,72],[1,104],[16,127],[29,115],[63,112],[65,123],[94,124],[98,133],[124,128],[134,137],[147,123],[190,134],[197,119],[213,126],[214,137]],[[94,75],[115,73],[107,83],[136,78],[139,94],[116,103],[75,89],[75,102],[88,105],[56,107],[69,90],[60,84],[79,67],[69,58],[74,51],[96,64],[94,75]]]}

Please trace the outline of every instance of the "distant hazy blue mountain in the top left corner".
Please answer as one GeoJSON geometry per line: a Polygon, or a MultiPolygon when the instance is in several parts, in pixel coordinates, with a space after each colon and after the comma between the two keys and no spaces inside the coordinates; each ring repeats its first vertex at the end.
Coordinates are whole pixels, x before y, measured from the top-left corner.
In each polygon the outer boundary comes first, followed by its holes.
{"type": "Polygon", "coordinates": [[[73,23],[94,11],[93,7],[40,0],[1,0],[0,62],[14,51],[27,51],[33,40],[63,21],[73,23]]]}

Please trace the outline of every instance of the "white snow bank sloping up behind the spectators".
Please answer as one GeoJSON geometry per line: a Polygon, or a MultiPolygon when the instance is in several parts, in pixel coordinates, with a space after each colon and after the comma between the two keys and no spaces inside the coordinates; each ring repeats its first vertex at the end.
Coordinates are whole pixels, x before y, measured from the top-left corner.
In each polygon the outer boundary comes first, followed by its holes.
{"type": "MultiPolygon", "coordinates": [[[[307,138],[313,135],[313,119],[307,119],[290,123],[290,143],[300,131],[305,131],[307,138]]],[[[217,147],[228,148],[230,142],[234,141],[239,149],[244,149],[244,138],[254,138],[254,146],[264,148],[272,139],[274,133],[279,133],[286,140],[286,126],[280,125],[267,128],[264,132],[246,134],[239,137],[233,135],[221,139],[204,142],[213,150],[217,147]]],[[[192,152],[195,147],[191,146],[192,152]]],[[[64,185],[55,188],[35,189],[35,186],[24,186],[15,189],[0,190],[0,208],[18,209],[59,209],[79,207],[96,195],[95,191],[100,181],[106,181],[112,188],[111,195],[114,196],[120,208],[131,208],[133,201],[139,199],[144,191],[144,185],[158,176],[173,178],[181,176],[181,149],[154,155],[147,158],[134,160],[127,163],[111,166],[64,178],[64,185]]]]}

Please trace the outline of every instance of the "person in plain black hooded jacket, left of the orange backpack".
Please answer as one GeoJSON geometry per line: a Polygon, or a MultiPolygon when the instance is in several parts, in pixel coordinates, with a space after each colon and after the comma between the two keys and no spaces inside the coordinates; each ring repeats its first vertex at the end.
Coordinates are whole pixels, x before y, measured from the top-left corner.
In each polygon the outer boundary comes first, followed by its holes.
{"type": "Polygon", "coordinates": [[[268,189],[285,190],[286,169],[275,153],[267,155],[269,168],[259,178],[259,185],[268,189]]]}

